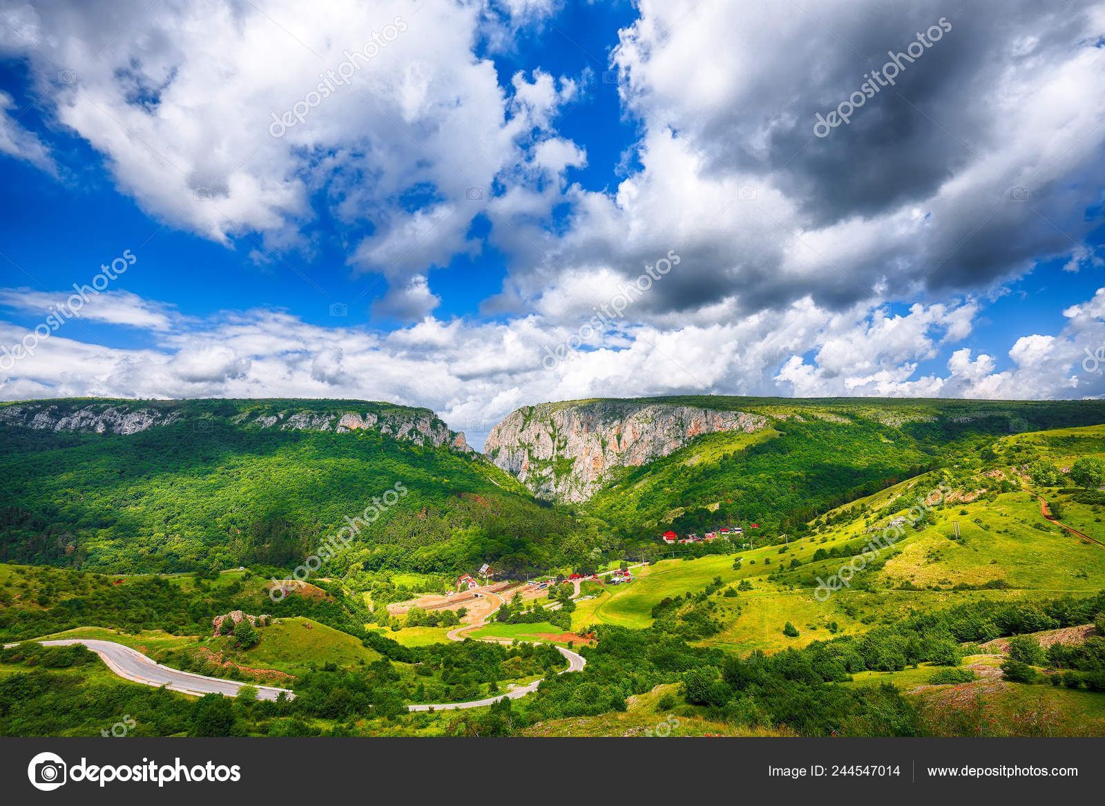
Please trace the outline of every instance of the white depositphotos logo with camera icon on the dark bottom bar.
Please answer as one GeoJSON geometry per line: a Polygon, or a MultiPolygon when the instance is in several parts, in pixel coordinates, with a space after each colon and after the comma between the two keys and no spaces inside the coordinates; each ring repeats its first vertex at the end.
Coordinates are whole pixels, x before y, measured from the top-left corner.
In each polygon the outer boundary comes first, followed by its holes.
{"type": "Polygon", "coordinates": [[[187,766],[177,757],[173,764],[158,765],[156,761],[143,758],[141,764],[88,764],[82,756],[81,763],[69,767],[69,765],[56,753],[39,753],[31,758],[27,765],[27,777],[31,779],[31,785],[35,789],[52,792],[65,783],[87,781],[106,786],[113,781],[129,781],[140,784],[157,783],[159,787],[166,784],[192,783],[203,781],[232,781],[242,779],[242,768],[234,764],[215,765],[214,762],[187,766]]]}

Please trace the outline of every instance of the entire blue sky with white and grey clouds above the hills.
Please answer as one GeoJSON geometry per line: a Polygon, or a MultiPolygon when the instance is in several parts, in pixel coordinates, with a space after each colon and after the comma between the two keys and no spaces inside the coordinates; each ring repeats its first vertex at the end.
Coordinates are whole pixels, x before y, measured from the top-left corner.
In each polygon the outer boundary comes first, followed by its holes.
{"type": "Polygon", "coordinates": [[[1098,397],[1105,11],[1036,6],[0,4],[0,397],[1098,397]]]}

